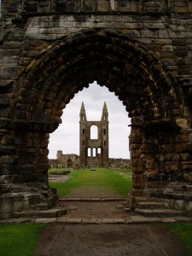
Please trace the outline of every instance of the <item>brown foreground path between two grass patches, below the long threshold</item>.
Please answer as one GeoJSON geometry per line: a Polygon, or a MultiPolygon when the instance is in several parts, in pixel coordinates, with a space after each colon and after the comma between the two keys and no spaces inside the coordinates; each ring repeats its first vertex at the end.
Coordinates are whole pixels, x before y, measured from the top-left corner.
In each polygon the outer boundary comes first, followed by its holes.
{"type": "Polygon", "coordinates": [[[189,256],[157,224],[55,224],[44,230],[34,256],[189,256]]]}

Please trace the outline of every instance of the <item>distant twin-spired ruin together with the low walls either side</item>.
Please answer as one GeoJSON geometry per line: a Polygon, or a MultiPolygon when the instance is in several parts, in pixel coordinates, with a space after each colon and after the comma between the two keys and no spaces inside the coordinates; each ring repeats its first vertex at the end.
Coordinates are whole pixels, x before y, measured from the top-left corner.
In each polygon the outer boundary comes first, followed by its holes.
{"type": "Polygon", "coordinates": [[[79,151],[80,154],[62,154],[57,151],[55,160],[49,160],[51,167],[130,167],[128,159],[114,159],[108,157],[108,108],[104,102],[102,108],[102,119],[100,121],[88,121],[82,102],[79,121],[79,151]],[[91,138],[91,128],[95,126],[97,138],[91,138]]]}

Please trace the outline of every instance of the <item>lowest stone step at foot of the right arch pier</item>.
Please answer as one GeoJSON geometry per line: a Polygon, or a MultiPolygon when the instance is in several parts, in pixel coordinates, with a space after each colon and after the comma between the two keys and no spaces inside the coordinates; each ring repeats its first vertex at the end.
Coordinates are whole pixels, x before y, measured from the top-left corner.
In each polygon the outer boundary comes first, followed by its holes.
{"type": "Polygon", "coordinates": [[[136,208],[135,212],[143,216],[152,216],[152,217],[174,217],[174,216],[184,216],[185,212],[178,211],[174,209],[140,209],[136,208]]]}

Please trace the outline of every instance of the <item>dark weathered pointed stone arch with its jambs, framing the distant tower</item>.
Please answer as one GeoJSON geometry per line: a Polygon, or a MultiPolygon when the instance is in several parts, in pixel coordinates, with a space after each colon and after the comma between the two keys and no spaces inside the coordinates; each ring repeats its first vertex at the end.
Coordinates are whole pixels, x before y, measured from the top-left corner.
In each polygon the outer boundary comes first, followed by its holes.
{"type": "Polygon", "coordinates": [[[189,181],[188,169],[180,168],[179,138],[187,139],[189,132],[182,125],[177,81],[136,40],[115,31],[84,31],[50,44],[15,80],[10,133],[5,136],[11,135],[15,144],[9,152],[9,178],[3,180],[15,195],[6,194],[11,202],[3,216],[55,204],[47,177],[49,133],[61,123],[73,96],[94,80],[114,92],[131,117],[132,196],[163,197],[162,188],[177,177],[189,181]]]}

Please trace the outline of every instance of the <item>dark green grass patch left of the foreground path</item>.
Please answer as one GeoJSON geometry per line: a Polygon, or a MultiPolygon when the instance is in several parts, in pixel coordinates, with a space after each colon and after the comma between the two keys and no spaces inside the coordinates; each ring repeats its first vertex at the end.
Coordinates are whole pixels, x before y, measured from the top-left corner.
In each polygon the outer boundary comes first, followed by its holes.
{"type": "Polygon", "coordinates": [[[0,255],[32,256],[40,232],[47,224],[1,224],[0,255]]]}

